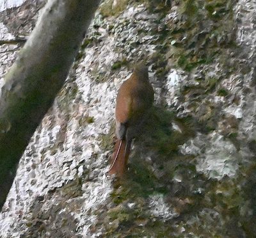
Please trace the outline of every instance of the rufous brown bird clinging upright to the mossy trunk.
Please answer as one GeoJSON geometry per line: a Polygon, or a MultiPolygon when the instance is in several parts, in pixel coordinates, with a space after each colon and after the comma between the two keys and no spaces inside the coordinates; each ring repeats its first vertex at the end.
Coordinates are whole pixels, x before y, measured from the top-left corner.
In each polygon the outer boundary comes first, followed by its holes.
{"type": "Polygon", "coordinates": [[[130,154],[132,139],[141,132],[154,102],[154,90],[148,81],[148,68],[142,63],[122,86],[116,97],[116,144],[110,174],[122,177],[130,154]]]}

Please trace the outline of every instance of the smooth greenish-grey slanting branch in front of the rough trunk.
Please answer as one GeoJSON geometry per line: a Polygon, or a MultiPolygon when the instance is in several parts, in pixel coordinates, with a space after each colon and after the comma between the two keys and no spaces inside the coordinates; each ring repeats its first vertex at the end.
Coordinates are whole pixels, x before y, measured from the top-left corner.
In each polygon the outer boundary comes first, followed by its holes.
{"type": "Polygon", "coordinates": [[[0,209],[33,132],[65,82],[99,0],[49,0],[0,98],[0,209]]]}

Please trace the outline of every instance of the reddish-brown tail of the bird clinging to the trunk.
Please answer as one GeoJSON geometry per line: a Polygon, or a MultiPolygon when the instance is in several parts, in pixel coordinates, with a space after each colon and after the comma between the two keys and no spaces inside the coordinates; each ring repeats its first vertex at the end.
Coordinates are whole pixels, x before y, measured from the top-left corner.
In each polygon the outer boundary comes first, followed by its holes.
{"type": "Polygon", "coordinates": [[[110,174],[122,177],[129,158],[130,148],[131,141],[126,141],[125,139],[118,139],[116,141],[115,151],[111,158],[110,174]]]}

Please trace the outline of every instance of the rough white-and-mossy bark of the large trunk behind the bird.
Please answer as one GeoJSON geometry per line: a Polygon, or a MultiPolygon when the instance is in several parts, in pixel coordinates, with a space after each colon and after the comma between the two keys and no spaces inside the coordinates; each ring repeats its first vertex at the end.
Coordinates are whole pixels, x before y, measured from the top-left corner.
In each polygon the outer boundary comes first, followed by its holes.
{"type": "Polygon", "coordinates": [[[255,1],[170,2],[100,5],[20,159],[1,237],[255,237],[255,1]],[[155,107],[116,181],[116,93],[141,60],[155,107]]]}

